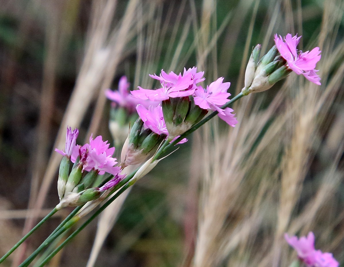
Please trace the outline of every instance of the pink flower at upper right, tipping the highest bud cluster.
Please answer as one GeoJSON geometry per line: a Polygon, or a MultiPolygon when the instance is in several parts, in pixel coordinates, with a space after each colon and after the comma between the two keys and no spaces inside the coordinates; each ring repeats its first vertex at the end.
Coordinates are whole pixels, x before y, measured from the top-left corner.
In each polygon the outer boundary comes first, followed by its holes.
{"type": "Polygon", "coordinates": [[[275,34],[275,43],[278,51],[280,52],[281,56],[287,61],[288,66],[298,75],[302,74],[306,79],[310,80],[311,82],[321,85],[320,77],[316,75],[315,70],[316,63],[321,58],[321,51],[319,47],[313,48],[311,51],[298,51],[296,49],[300,37],[295,35],[294,37],[291,36],[290,33],[282,39],[282,36],[277,36],[275,34]]]}

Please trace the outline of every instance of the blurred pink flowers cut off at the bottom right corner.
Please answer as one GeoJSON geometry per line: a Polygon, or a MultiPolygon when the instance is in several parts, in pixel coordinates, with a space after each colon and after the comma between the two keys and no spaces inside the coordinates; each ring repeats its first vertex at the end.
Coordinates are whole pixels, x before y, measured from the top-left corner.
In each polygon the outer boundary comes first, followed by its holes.
{"type": "Polygon", "coordinates": [[[308,267],[338,267],[339,263],[333,258],[332,253],[323,253],[314,247],[314,234],[309,232],[307,237],[302,236],[299,239],[296,236],[289,237],[284,235],[288,244],[298,253],[300,260],[308,267]]]}

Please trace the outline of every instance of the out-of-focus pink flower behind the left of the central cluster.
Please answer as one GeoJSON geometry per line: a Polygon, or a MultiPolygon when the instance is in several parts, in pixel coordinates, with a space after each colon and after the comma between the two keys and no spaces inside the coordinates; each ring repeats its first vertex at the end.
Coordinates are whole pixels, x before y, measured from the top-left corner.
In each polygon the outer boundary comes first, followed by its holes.
{"type": "Polygon", "coordinates": [[[145,107],[148,107],[152,104],[149,100],[142,100],[133,97],[129,93],[129,85],[130,83],[127,80],[126,76],[122,76],[119,79],[118,83],[118,91],[112,91],[111,89],[107,89],[105,91],[105,96],[110,99],[114,106],[119,106],[127,109],[129,112],[133,112],[137,104],[141,104],[145,107]]]}

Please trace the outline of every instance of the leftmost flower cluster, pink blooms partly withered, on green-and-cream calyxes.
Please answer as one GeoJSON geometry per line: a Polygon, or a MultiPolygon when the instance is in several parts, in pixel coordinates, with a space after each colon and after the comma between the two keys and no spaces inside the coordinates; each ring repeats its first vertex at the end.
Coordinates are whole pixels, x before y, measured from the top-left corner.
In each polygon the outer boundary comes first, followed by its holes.
{"type": "Polygon", "coordinates": [[[114,187],[125,177],[120,174],[121,168],[116,166],[117,159],[112,157],[115,148],[110,148],[108,141],[103,141],[101,136],[93,139],[91,135],[89,144],[76,145],[78,133],[78,129],[72,131],[71,127],[68,127],[65,151],[55,149],[64,156],[57,181],[60,208],[78,206],[98,198],[101,192],[114,187]],[[74,166],[69,172],[70,161],[74,163],[74,166]],[[89,188],[97,175],[103,175],[105,172],[114,177],[100,188],[89,188]]]}

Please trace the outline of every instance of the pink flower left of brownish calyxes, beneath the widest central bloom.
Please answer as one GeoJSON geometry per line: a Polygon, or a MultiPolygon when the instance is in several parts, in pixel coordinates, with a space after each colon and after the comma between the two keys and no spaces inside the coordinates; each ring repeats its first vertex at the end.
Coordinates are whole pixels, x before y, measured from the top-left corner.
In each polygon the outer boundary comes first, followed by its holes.
{"type": "Polygon", "coordinates": [[[165,135],[169,134],[162,114],[162,107],[160,105],[155,108],[150,106],[148,110],[142,105],[137,105],[136,110],[143,121],[144,127],[151,129],[158,135],[161,135],[162,133],[165,135]]]}

